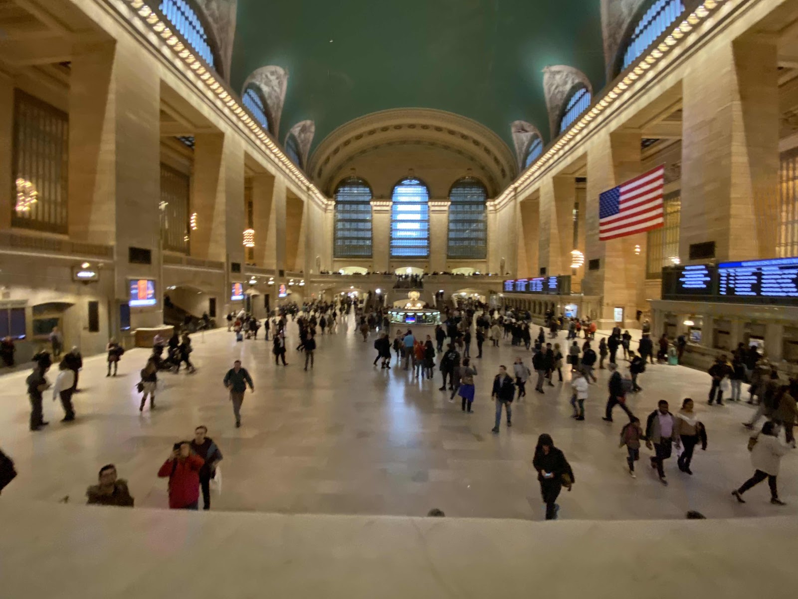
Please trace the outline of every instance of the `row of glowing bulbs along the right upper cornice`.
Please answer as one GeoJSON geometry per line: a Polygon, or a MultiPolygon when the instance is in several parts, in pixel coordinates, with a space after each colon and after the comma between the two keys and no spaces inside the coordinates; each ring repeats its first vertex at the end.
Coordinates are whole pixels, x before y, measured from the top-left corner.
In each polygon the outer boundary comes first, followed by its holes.
{"type": "Polygon", "coordinates": [[[681,42],[681,39],[685,37],[685,34],[689,33],[689,31],[693,30],[693,27],[697,26],[701,20],[709,17],[709,14],[712,13],[713,10],[717,9],[718,6],[721,6],[726,0],[704,0],[700,6],[696,8],[692,13],[687,15],[687,17],[678,24],[678,26],[674,27],[671,30],[670,34],[668,34],[667,38],[658,46],[654,46],[649,52],[649,54],[645,56],[641,56],[638,58],[637,64],[630,65],[630,71],[627,73],[622,81],[618,81],[618,83],[614,86],[613,89],[610,89],[600,100],[597,99],[598,104],[595,105],[592,109],[587,111],[583,114],[578,121],[575,121],[573,125],[571,125],[571,129],[567,129],[567,131],[563,132],[558,141],[555,141],[555,144],[548,149],[547,152],[543,153],[537,161],[529,166],[527,170],[525,170],[515,181],[512,182],[504,190],[501,192],[494,202],[496,205],[502,204],[505,201],[510,200],[513,196],[516,196],[519,189],[523,187],[524,184],[527,183],[532,177],[539,172],[539,170],[543,169],[544,166],[547,165],[547,162],[554,159],[554,157],[560,153],[563,148],[567,145],[570,145],[571,140],[573,140],[582,130],[590,124],[593,118],[598,114],[595,112],[596,109],[602,111],[607,106],[614,104],[619,97],[626,93],[630,93],[630,89],[636,85],[639,77],[646,73],[646,70],[650,69],[652,66],[661,61],[662,58],[666,58],[666,54],[670,52],[678,43],[681,42]]]}

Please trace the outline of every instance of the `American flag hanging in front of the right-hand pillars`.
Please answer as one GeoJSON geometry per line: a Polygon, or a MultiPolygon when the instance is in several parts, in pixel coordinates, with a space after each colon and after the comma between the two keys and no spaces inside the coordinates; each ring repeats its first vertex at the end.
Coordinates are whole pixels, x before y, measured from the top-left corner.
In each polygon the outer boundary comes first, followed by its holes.
{"type": "Polygon", "coordinates": [[[607,241],[660,228],[664,224],[665,167],[635,177],[599,196],[599,240],[607,241]]]}

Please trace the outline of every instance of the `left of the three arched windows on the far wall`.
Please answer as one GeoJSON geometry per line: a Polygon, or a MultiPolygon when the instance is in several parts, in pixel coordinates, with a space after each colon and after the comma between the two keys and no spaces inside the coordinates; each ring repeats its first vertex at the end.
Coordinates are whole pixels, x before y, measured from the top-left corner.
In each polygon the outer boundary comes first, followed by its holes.
{"type": "Polygon", "coordinates": [[[347,177],[335,188],[336,258],[371,257],[371,188],[359,177],[347,177]]]}

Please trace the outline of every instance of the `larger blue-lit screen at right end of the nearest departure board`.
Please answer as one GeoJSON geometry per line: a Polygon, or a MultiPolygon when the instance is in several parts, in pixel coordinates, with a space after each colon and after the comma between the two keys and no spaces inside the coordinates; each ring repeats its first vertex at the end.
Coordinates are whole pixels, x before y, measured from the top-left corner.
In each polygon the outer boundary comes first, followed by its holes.
{"type": "Polygon", "coordinates": [[[798,300],[798,258],[724,262],[717,273],[721,296],[798,300]]]}

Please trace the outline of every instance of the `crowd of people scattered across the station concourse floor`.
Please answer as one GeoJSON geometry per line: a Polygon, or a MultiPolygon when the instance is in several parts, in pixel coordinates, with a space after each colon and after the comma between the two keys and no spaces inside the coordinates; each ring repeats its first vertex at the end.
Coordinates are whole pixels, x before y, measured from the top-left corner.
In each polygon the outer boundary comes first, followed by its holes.
{"type": "MultiPolygon", "coordinates": [[[[590,320],[547,315],[547,326],[537,327],[535,332],[528,313],[496,309],[470,299],[442,307],[442,322],[431,335],[417,335],[409,327],[397,330],[391,339],[388,313],[383,304],[376,297],[358,300],[349,296],[342,296],[334,302],[314,301],[302,306],[286,303],[273,311],[267,319],[263,319],[263,322],[246,311],[240,311],[227,316],[228,331],[235,332],[237,340],[255,340],[259,329],[263,327],[267,342],[270,341],[271,334],[275,365],[279,365],[282,359],[282,364],[286,366],[286,325],[290,317],[297,324],[298,330],[295,351],[304,353],[304,368],[307,371],[314,367],[317,335],[336,333],[339,319],[346,319],[353,310],[355,333],[362,335],[364,341],[369,339],[369,335],[374,335],[374,348],[377,351],[373,359],[374,367],[379,362],[381,369],[390,369],[395,359],[395,367],[401,367],[413,379],[420,381],[433,379],[437,367],[442,383],[439,391],[448,392],[450,403],[459,398],[460,409],[465,414],[474,413],[473,404],[477,399],[475,383],[480,377],[476,360],[483,357],[485,341],[491,342],[493,347],[499,347],[509,338],[513,351],[522,353],[516,355],[511,367],[501,365],[493,374],[489,388],[496,408],[492,428],[494,434],[500,433],[503,419],[506,426],[512,427],[512,403],[523,402],[527,395],[527,382],[533,375],[535,392],[542,395],[547,393],[547,388],[556,387],[559,390],[563,384],[571,387],[572,417],[577,421],[584,421],[585,403],[590,400],[591,388],[598,382],[595,371],[606,369],[610,376],[606,383],[607,399],[603,420],[614,422],[615,407],[620,407],[626,414],[628,422],[619,431],[618,442],[620,447],[626,448],[626,468],[630,477],[637,477],[635,466],[640,459],[643,444],[653,452],[650,455],[650,466],[663,485],[668,484],[665,465],[674,450],[678,454],[678,470],[692,475],[695,448],[701,446],[705,450],[707,447],[708,431],[694,411],[693,399],[683,399],[678,410],[674,412],[670,411],[670,404],[666,399],[660,399],[656,409],[650,411],[645,418],[635,415],[626,402],[629,394],[642,391],[638,383],[646,372],[647,364],[681,361],[681,339],[670,344],[663,335],[658,342],[660,351],[655,356],[654,343],[648,332],[643,333],[638,341],[637,351],[631,347],[632,335],[629,331],[622,331],[620,327],[614,327],[609,335],[601,335],[596,344],[597,328],[590,320]],[[559,331],[567,331],[566,342],[571,345],[564,343],[561,346],[555,340],[560,339],[559,331]],[[583,334],[581,343],[580,334],[583,334]],[[472,355],[472,343],[476,345],[476,355],[472,355]],[[598,352],[593,349],[594,345],[598,352]],[[524,360],[522,347],[523,351],[531,352],[528,365],[524,360]],[[619,364],[621,359],[626,360],[628,376],[622,374],[619,364]],[[570,379],[567,378],[569,373],[563,376],[565,364],[570,366],[570,379]]],[[[57,344],[61,339],[59,335],[51,335],[50,341],[53,351],[42,349],[34,356],[34,370],[26,379],[31,403],[31,430],[41,430],[48,424],[43,419],[41,409],[44,393],[50,388],[45,374],[53,364],[57,349],[60,349],[57,344]]],[[[160,371],[177,373],[184,363],[189,373],[196,371],[190,359],[191,351],[191,337],[186,331],[181,334],[176,329],[169,339],[156,335],[153,339],[152,355],[141,369],[140,383],[137,385],[141,393],[140,411],[144,410],[147,400],[150,409],[155,409],[160,371]]],[[[106,376],[117,375],[122,355],[123,348],[116,339],[111,339],[107,347],[106,376]]],[[[52,393],[53,400],[61,400],[65,413],[64,422],[71,422],[76,418],[71,399],[79,391],[77,383],[81,367],[82,357],[77,347],[63,354],[58,362],[58,375],[52,385],[52,393]]],[[[798,381],[782,381],[776,368],[760,355],[756,347],[746,347],[742,343],[733,352],[730,360],[725,355],[717,358],[709,368],[709,377],[709,406],[722,406],[724,399],[731,402],[742,401],[744,382],[748,384],[748,403],[757,404],[752,419],[743,423],[747,429],[754,431],[749,437],[754,473],[732,491],[733,497],[738,502],[745,502],[743,494],[758,483],[768,480],[771,502],[774,505],[784,505],[778,496],[777,475],[780,458],[788,453],[791,446],[796,445],[793,428],[798,419],[798,381]],[[757,423],[763,418],[764,426],[757,432],[757,423]],[[780,440],[782,431],[784,442],[780,440]]],[[[252,376],[242,367],[240,360],[235,360],[222,383],[229,394],[235,426],[239,427],[247,388],[251,392],[255,391],[252,376]]],[[[176,442],[172,453],[157,473],[159,477],[169,479],[169,506],[198,509],[201,492],[203,507],[209,509],[211,481],[218,477],[217,484],[220,484],[218,465],[221,460],[221,451],[207,437],[205,426],[196,428],[193,441],[176,442]]],[[[9,462],[9,458],[0,454],[0,488],[4,480],[4,484],[7,484],[13,478],[6,476],[9,462]]],[[[13,462],[10,463],[10,469],[13,470],[13,462]]],[[[556,501],[563,487],[571,490],[575,482],[574,472],[549,434],[539,435],[533,465],[538,475],[546,518],[555,519],[559,513],[556,501]]],[[[113,464],[101,468],[98,484],[89,487],[87,497],[89,503],[133,505],[127,483],[117,478],[117,470],[113,464]]]]}

